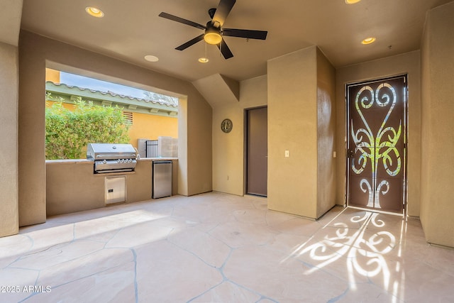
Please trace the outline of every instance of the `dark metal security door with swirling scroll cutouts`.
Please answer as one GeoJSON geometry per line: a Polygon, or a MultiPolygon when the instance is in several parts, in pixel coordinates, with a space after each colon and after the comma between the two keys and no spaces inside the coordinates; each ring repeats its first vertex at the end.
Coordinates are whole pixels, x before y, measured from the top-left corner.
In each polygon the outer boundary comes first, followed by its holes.
{"type": "Polygon", "coordinates": [[[349,84],[348,205],[402,212],[406,178],[406,75],[349,84]]]}

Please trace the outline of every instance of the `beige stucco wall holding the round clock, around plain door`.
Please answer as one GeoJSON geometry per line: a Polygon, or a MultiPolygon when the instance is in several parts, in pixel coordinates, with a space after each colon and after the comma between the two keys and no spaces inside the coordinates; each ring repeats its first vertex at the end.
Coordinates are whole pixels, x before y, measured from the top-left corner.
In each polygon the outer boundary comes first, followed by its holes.
{"type": "Polygon", "coordinates": [[[244,194],[245,109],[267,104],[267,77],[240,82],[240,101],[213,109],[213,190],[244,194]],[[223,119],[231,119],[230,133],[221,131],[223,119]]]}

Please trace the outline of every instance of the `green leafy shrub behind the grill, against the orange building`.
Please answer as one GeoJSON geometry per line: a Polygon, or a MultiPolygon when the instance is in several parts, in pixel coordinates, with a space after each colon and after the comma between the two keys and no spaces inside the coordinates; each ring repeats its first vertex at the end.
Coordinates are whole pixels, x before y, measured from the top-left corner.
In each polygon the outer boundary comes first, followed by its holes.
{"type": "Polygon", "coordinates": [[[82,97],[74,104],[74,111],[62,101],[45,109],[46,159],[86,158],[88,143],[128,143],[128,126],[118,106],[95,106],[82,97]]]}

